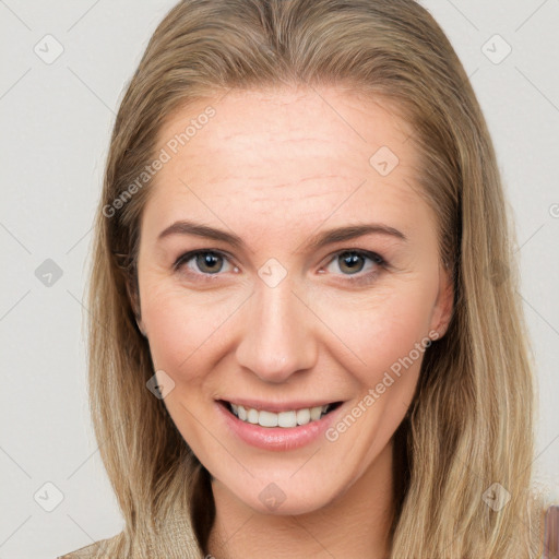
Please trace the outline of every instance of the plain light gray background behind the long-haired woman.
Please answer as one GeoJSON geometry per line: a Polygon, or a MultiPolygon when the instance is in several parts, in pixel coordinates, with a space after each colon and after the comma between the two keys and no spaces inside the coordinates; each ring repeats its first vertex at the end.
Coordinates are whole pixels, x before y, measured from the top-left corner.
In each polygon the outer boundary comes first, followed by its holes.
{"type": "MultiPolygon", "coordinates": [[[[53,558],[122,527],[88,416],[84,264],[115,112],[174,3],[0,0],[0,559],[53,558]],[[63,47],[51,63],[34,51],[56,53],[47,34],[63,47]],[[35,275],[46,259],[62,271],[50,286],[35,275]]],[[[423,4],[472,76],[514,211],[540,392],[537,479],[559,501],[559,1],[423,4]]]]}

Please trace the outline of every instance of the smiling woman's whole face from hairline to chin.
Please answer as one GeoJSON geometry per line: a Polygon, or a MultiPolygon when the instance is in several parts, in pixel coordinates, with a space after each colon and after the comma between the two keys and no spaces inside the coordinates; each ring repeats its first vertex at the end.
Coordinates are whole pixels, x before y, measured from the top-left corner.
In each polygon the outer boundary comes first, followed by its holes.
{"type": "Polygon", "coordinates": [[[374,468],[444,333],[409,133],[386,103],[333,88],[233,91],[159,131],[139,324],[177,428],[253,510],[318,510],[374,468]]]}

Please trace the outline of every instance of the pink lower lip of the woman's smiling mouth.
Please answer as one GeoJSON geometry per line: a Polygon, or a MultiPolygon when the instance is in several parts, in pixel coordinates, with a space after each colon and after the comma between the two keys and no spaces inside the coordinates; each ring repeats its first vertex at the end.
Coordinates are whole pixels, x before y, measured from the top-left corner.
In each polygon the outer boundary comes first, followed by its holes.
{"type": "Polygon", "coordinates": [[[262,427],[242,421],[226,409],[225,405],[216,402],[219,414],[225,419],[227,428],[246,443],[259,449],[287,451],[299,449],[321,438],[332,425],[343,404],[322,416],[319,420],[297,427],[262,427]]]}

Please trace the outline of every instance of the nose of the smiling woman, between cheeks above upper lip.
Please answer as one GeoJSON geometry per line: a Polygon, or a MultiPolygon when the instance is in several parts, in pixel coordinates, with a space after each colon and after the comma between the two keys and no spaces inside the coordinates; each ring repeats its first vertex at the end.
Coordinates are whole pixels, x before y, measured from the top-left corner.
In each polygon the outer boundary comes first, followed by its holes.
{"type": "Polygon", "coordinates": [[[314,332],[318,319],[308,301],[293,293],[289,276],[280,285],[257,286],[247,301],[238,364],[264,382],[280,383],[317,361],[314,332]]]}

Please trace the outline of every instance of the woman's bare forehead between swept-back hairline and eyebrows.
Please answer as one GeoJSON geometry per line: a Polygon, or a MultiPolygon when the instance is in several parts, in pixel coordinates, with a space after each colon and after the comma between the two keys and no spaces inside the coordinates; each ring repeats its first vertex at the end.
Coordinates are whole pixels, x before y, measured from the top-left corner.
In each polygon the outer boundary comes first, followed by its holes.
{"type": "Polygon", "coordinates": [[[157,153],[169,159],[154,178],[147,219],[185,218],[186,210],[210,218],[213,210],[245,228],[328,215],[412,226],[424,202],[411,133],[389,103],[335,88],[199,99],[159,130],[157,153]]]}

